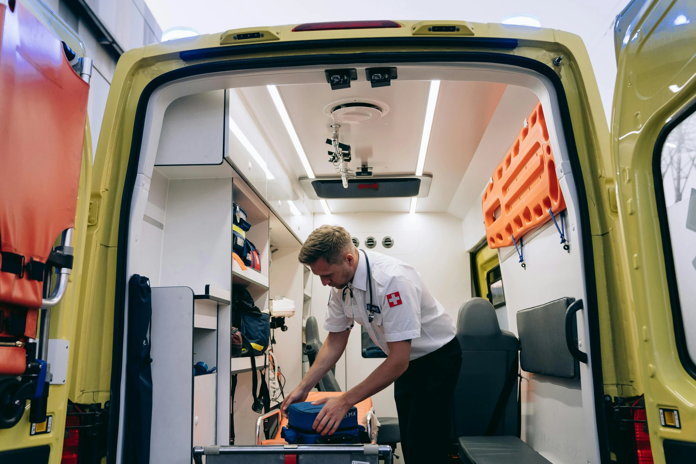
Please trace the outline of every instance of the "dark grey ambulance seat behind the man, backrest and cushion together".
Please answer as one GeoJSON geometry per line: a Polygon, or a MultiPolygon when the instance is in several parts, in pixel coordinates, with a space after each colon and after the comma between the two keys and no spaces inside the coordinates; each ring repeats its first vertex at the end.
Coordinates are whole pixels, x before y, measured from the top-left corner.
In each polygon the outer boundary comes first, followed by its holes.
{"type": "Polygon", "coordinates": [[[492,436],[486,435],[505,378],[516,371],[519,342],[500,330],[493,305],[471,298],[459,308],[461,371],[454,390],[454,440],[464,464],[551,464],[517,438],[517,381],[492,436]]]}

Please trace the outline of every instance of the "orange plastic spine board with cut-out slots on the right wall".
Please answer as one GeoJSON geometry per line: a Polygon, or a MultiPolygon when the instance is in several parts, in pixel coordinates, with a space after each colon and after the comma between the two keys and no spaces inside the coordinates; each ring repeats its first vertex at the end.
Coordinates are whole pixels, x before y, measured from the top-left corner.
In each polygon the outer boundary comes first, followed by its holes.
{"type": "Polygon", "coordinates": [[[493,171],[482,209],[490,248],[512,246],[530,230],[565,209],[541,102],[493,171]]]}

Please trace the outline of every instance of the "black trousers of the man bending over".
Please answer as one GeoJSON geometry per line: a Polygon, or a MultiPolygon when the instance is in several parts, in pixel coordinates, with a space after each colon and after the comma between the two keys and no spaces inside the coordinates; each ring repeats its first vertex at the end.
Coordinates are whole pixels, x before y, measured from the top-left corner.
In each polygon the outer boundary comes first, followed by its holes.
{"type": "Polygon", "coordinates": [[[461,369],[457,337],[409,362],[394,383],[404,464],[445,463],[450,446],[452,395],[461,369]]]}

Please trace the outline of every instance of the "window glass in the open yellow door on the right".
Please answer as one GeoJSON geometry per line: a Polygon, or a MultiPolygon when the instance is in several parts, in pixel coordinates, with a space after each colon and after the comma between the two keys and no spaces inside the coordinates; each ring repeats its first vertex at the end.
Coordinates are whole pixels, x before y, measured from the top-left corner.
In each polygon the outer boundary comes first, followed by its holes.
{"type": "MultiPolygon", "coordinates": [[[[661,152],[674,277],[686,345],[696,358],[696,113],[675,125],[661,152]]],[[[663,218],[664,220],[664,218],[663,218]]],[[[673,302],[674,304],[674,302],[673,302]]],[[[674,324],[677,327],[677,324],[674,324]]]]}

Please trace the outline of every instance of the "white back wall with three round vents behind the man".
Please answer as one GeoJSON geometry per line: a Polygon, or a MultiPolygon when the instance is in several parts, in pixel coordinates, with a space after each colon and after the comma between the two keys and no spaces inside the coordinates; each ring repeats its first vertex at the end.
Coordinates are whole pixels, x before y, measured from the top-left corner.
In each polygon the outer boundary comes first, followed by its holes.
{"type": "MultiPolygon", "coordinates": [[[[461,303],[470,297],[469,261],[459,219],[446,213],[315,214],[314,226],[323,224],[345,227],[351,236],[360,240],[359,248],[365,248],[366,237],[377,239],[377,246],[372,250],[393,255],[413,266],[435,298],[450,313],[452,320],[457,320],[461,303]],[[381,245],[386,236],[393,238],[392,248],[381,245]]],[[[314,280],[312,315],[319,323],[321,339],[325,339],[328,334],[323,323],[329,288],[323,287],[316,276],[314,280]]],[[[350,389],[363,381],[382,361],[362,357],[361,330],[356,324],[345,357],[336,366],[336,378],[344,390],[350,389]],[[346,375],[347,372],[350,374],[346,375]]],[[[393,385],[373,395],[372,402],[378,416],[397,416],[393,385]]]]}

